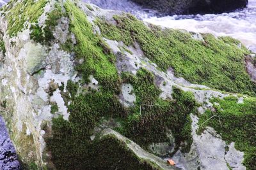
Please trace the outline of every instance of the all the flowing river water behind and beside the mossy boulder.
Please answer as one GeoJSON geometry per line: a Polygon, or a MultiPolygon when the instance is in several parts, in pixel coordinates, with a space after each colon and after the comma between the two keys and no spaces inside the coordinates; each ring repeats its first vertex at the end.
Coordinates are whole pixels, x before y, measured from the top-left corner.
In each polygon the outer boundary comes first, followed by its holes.
{"type": "MultiPolygon", "coordinates": [[[[8,0],[0,0],[0,6],[8,0]]],[[[141,8],[128,0],[84,0],[104,9],[130,12],[152,24],[193,32],[208,32],[215,36],[232,36],[256,53],[256,0],[249,0],[248,8],[218,15],[173,15],[156,17],[157,12],[141,8]]],[[[0,117],[0,169],[19,169],[15,149],[0,117]]]]}

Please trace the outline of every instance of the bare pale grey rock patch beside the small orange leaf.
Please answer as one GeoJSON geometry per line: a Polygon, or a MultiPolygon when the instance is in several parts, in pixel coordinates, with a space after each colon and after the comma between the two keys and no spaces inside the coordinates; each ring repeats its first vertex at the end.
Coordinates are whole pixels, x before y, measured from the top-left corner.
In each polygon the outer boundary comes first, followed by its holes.
{"type": "MultiPolygon", "coordinates": [[[[217,134],[214,129],[207,127],[202,134],[196,134],[198,129],[198,118],[191,115],[193,143],[189,153],[177,152],[172,157],[176,162],[177,167],[183,169],[223,169],[228,170],[227,164],[236,165],[235,169],[246,169],[243,162],[243,152],[239,152],[234,148],[234,143],[231,143],[229,150],[226,153],[226,142],[221,139],[220,134],[217,134]]],[[[233,167],[233,166],[232,166],[233,167]]]]}

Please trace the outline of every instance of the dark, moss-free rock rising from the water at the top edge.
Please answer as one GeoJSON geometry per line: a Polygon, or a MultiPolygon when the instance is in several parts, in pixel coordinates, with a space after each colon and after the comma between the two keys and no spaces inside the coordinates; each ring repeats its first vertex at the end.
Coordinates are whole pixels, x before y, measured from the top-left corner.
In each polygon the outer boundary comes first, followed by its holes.
{"type": "Polygon", "coordinates": [[[164,15],[223,13],[245,8],[248,0],[132,0],[164,15]]]}

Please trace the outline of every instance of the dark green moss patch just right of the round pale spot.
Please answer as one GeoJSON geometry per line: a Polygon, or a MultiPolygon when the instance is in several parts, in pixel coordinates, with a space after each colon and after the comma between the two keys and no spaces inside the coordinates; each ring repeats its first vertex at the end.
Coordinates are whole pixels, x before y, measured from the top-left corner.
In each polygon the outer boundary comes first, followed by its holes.
{"type": "Polygon", "coordinates": [[[189,114],[195,113],[197,106],[193,94],[173,88],[173,100],[160,99],[161,90],[154,85],[154,76],[144,69],[140,69],[136,77],[123,74],[123,79],[134,86],[136,103],[124,120],[124,127],[117,130],[143,148],[151,143],[168,142],[166,133],[171,130],[177,148],[187,141],[182,151],[188,152],[192,143],[189,114]]]}

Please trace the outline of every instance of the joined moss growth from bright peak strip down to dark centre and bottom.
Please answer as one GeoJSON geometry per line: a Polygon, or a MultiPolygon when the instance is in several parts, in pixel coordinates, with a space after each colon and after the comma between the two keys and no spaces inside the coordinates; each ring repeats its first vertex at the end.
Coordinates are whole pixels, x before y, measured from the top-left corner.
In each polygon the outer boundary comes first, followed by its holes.
{"type": "Polygon", "coordinates": [[[120,120],[122,122],[120,132],[129,137],[139,132],[138,137],[132,139],[142,143],[143,146],[156,140],[160,142],[162,139],[166,140],[165,132],[169,128],[177,137],[177,143],[188,141],[188,146],[190,146],[191,129],[188,125],[190,123],[188,114],[194,110],[196,105],[192,94],[175,89],[174,100],[159,99],[161,90],[154,85],[154,75],[145,69],[140,69],[136,76],[124,73],[120,78],[115,67],[115,56],[102,41],[100,35],[93,33],[93,27],[83,11],[71,1],[66,1],[64,7],[68,17],[72,18],[70,31],[77,39],[77,44],[74,46],[76,60],[83,61],[82,64],[76,66],[78,73],[83,77],[79,83],[81,85],[87,83],[88,77],[92,74],[99,81],[100,88],[99,91],[84,89],[77,93],[79,85],[68,81],[70,116],[68,121],[62,117],[54,118],[52,120],[52,136],[45,139],[47,150],[51,151],[52,162],[57,169],[113,168],[108,167],[109,165],[120,166],[122,169],[122,164],[117,163],[120,159],[122,162],[125,162],[125,159],[133,162],[129,165],[123,164],[125,167],[141,169],[143,165],[147,169],[151,169],[145,160],[138,160],[132,153],[124,150],[124,144],[112,137],[99,140],[96,136],[94,141],[90,139],[102,117],[120,120]],[[136,94],[134,107],[124,108],[118,100],[122,81],[134,86],[136,94]],[[155,104],[156,107],[146,106],[150,104],[155,104]],[[146,122],[145,127],[140,129],[138,126],[143,124],[143,121],[146,122]],[[152,127],[155,125],[156,129],[153,129],[152,127]],[[132,129],[135,130],[132,131],[132,129]],[[143,132],[148,132],[148,134],[143,134],[143,132]],[[159,139],[157,139],[158,137],[159,139]],[[124,157],[117,157],[122,153],[125,153],[124,157]]]}

